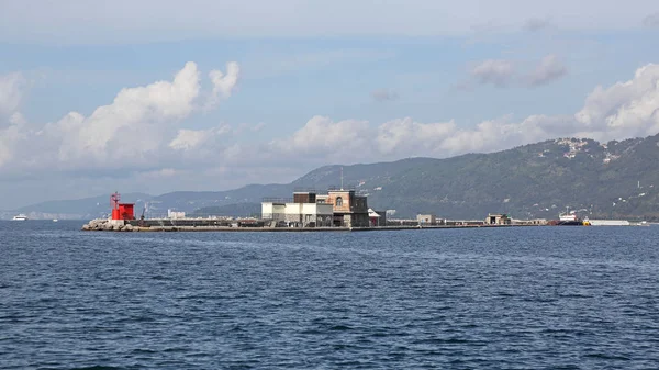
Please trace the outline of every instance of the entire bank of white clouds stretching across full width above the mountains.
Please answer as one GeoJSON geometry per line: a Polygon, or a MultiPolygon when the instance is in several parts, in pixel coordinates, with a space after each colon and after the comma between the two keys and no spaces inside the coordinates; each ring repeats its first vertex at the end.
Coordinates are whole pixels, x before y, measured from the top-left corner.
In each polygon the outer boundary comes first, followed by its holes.
{"type": "MultiPolygon", "coordinates": [[[[546,63],[545,63],[546,61],[546,63]]],[[[552,59],[534,72],[541,80],[560,74],[552,59]]],[[[473,127],[448,121],[418,122],[412,117],[371,123],[358,119],[313,116],[288,136],[242,143],[237,132],[253,126],[217,125],[191,130],[186,120],[215,99],[235,91],[239,68],[209,74],[212,90],[204,93],[201,72],[187,63],[171,80],[124,88],[89,116],[71,111],[56,122],[31,123],[20,112],[25,83],[20,74],[0,78],[0,175],[5,179],[27,172],[132,172],[143,180],[245,176],[267,182],[277,173],[303,171],[331,162],[368,162],[411,156],[448,157],[493,152],[565,136],[599,141],[624,139],[659,132],[659,65],[636,70],[633,78],[599,86],[582,108],[569,115],[514,115],[487,120],[473,127]],[[237,175],[236,175],[237,173],[237,175]]],[[[297,173],[302,175],[302,173],[297,173]]],[[[80,175],[82,176],[82,175],[80,175]]]]}

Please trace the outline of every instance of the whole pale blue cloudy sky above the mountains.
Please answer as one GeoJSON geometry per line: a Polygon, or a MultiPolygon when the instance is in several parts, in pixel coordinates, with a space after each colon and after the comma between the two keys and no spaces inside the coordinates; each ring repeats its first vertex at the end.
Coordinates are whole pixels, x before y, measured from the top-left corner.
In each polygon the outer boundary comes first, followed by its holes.
{"type": "Polygon", "coordinates": [[[0,209],[659,133],[649,0],[0,0],[0,209]]]}

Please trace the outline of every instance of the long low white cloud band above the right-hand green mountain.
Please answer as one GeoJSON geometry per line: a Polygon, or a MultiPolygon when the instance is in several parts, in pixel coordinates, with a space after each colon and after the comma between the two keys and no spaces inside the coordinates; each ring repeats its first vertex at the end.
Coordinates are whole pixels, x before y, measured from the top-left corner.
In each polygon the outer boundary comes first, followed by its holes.
{"type": "Polygon", "coordinates": [[[447,157],[566,136],[610,141],[657,133],[659,65],[648,65],[629,81],[595,88],[573,115],[536,114],[523,120],[506,115],[472,128],[460,127],[454,121],[422,123],[405,117],[372,126],[365,121],[334,122],[315,116],[291,137],[277,141],[275,152],[280,156],[278,160],[315,158],[322,165],[407,156],[447,157]]]}

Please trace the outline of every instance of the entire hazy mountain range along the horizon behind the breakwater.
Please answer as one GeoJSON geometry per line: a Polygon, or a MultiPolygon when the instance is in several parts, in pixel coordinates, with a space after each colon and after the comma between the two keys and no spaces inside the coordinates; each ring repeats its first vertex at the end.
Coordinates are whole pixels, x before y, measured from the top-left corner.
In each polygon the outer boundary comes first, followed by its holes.
{"type": "MultiPolygon", "coordinates": [[[[658,145],[659,135],[605,144],[561,138],[446,159],[324,166],[289,184],[158,197],[126,194],[124,199],[147,201],[150,216],[165,215],[167,209],[190,213],[226,213],[232,208],[235,212],[253,211],[264,197],[289,198],[294,189],[324,191],[340,186],[343,168],[345,188],[367,194],[373,209],[396,210],[396,217],[428,212],[448,218],[483,218],[490,212],[501,212],[520,218],[556,218],[570,208],[591,217],[659,218],[658,145]]],[[[108,212],[108,195],[21,210],[98,215],[108,212]]]]}

